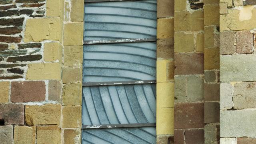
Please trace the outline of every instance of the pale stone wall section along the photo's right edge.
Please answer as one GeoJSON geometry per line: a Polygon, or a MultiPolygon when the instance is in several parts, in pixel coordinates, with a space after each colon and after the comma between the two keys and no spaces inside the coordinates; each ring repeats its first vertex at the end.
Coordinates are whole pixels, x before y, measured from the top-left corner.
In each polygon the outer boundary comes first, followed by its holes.
{"type": "Polygon", "coordinates": [[[220,1],[221,144],[256,140],[255,5],[255,0],[220,1]]]}

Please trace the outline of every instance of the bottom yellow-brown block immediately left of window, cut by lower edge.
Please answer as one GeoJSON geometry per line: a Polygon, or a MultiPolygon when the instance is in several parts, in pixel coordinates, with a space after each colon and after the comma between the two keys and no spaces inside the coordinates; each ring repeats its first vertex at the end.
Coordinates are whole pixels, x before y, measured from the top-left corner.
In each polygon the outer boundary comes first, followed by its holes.
{"type": "Polygon", "coordinates": [[[81,144],[81,130],[64,130],[64,144],[81,144]]]}

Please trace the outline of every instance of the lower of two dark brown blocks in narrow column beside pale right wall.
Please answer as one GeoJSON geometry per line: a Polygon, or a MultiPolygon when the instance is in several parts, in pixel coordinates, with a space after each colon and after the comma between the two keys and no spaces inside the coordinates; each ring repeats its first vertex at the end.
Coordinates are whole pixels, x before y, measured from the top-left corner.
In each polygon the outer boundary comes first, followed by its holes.
{"type": "Polygon", "coordinates": [[[218,123],[220,122],[220,103],[205,102],[204,103],[204,123],[218,123]]]}

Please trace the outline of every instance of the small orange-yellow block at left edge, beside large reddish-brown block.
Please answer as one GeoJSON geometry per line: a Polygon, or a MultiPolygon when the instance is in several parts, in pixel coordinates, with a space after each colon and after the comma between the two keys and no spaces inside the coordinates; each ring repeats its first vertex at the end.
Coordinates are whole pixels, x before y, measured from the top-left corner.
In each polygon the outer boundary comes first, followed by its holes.
{"type": "Polygon", "coordinates": [[[0,82],[0,103],[9,101],[10,82],[0,82]]]}

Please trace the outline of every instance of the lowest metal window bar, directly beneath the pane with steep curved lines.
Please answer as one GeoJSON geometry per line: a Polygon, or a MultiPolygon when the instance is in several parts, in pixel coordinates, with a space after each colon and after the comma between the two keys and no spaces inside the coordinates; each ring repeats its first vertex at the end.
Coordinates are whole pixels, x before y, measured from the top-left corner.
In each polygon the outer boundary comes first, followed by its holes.
{"type": "Polygon", "coordinates": [[[132,127],[149,127],[149,126],[156,126],[156,123],[82,125],[82,129],[88,129],[88,128],[132,128],[132,127]]]}

